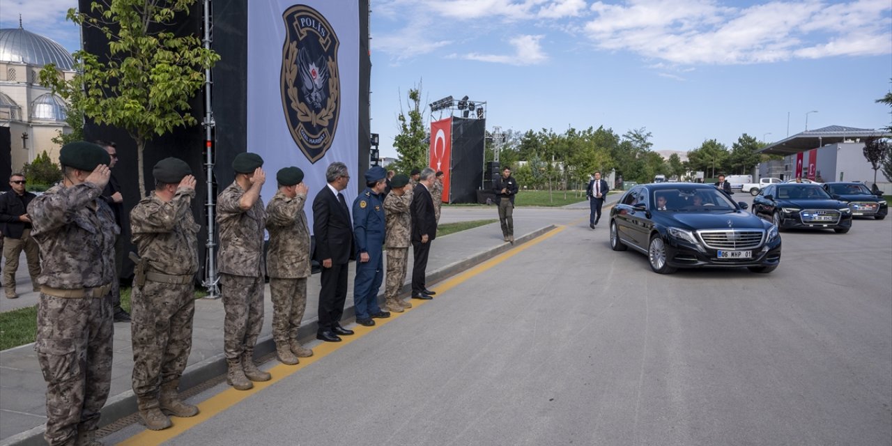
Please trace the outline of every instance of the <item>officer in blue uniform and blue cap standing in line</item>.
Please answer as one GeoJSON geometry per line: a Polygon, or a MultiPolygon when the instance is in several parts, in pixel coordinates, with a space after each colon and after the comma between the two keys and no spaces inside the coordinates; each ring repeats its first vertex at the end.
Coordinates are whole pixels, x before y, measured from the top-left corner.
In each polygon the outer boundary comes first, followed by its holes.
{"type": "Polygon", "coordinates": [[[374,318],[390,318],[378,306],[378,289],[384,281],[384,188],[387,172],[380,167],[366,172],[366,188],[353,202],[353,235],[359,252],[356,278],[353,280],[353,304],[356,323],[374,326],[374,318]]]}

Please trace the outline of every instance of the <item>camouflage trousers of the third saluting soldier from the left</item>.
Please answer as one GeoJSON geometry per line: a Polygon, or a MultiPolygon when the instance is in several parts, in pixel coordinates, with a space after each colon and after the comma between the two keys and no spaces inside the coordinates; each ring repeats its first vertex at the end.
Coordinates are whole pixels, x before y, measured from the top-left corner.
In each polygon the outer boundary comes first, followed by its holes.
{"type": "Polygon", "coordinates": [[[254,350],[263,327],[263,277],[220,274],[223,308],[223,352],[237,360],[244,351],[254,350]]]}

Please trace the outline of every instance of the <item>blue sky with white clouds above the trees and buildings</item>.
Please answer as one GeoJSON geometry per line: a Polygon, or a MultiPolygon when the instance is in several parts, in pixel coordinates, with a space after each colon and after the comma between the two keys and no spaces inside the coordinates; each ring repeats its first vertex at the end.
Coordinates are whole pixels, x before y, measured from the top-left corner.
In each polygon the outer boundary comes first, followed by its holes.
{"type": "MultiPolygon", "coordinates": [[[[258,0],[252,0],[258,1],[258,0]]],[[[74,0],[0,0],[0,26],[70,49],[74,0]]],[[[299,2],[296,2],[299,3],[299,2]]],[[[882,128],[892,116],[892,4],[709,0],[372,0],[372,131],[395,156],[396,116],[421,83],[488,103],[487,127],[647,128],[654,150],[748,133],[882,128]]],[[[425,118],[428,117],[425,114],[425,118]]]]}

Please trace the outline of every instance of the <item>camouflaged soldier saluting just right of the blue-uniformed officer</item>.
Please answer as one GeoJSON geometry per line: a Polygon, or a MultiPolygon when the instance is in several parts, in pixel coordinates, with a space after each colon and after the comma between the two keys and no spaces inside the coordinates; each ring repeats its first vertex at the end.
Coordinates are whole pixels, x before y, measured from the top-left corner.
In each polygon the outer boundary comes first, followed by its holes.
{"type": "Polygon", "coordinates": [[[412,204],[412,186],[405,174],[397,175],[391,180],[391,193],[384,198],[384,215],[387,219],[387,236],[384,246],[387,247],[387,284],[384,295],[387,297],[387,310],[397,313],[412,308],[409,301],[400,300],[400,290],[406,281],[406,264],[411,246],[412,215],[409,206],[412,204]]]}

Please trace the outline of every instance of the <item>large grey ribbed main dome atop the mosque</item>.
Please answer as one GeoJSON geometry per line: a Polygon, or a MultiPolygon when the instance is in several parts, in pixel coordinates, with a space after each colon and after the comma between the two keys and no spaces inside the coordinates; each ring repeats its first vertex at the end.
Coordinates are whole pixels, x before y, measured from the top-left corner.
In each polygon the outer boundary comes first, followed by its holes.
{"type": "Polygon", "coordinates": [[[0,29],[0,62],[24,62],[59,70],[73,70],[74,59],[62,45],[22,28],[0,29]]]}

